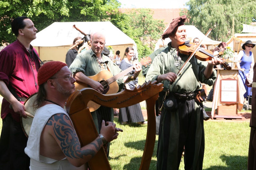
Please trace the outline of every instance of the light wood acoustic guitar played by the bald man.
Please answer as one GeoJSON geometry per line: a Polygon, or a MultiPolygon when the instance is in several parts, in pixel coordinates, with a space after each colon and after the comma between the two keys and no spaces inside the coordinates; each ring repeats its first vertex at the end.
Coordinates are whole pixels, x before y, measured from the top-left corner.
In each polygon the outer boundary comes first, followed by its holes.
{"type": "MultiPolygon", "coordinates": [[[[141,65],[147,65],[151,62],[151,58],[149,57],[143,57],[140,61],[141,65]]],[[[128,69],[125,69],[124,71],[118,73],[117,75],[113,76],[112,73],[108,70],[102,70],[99,73],[97,73],[94,76],[88,76],[90,79],[94,81],[98,81],[103,86],[103,94],[114,94],[117,93],[119,90],[119,86],[116,82],[116,80],[122,78],[123,76],[127,75],[129,72],[133,71],[133,66],[129,67],[128,69]]],[[[76,90],[81,90],[83,88],[91,88],[88,84],[85,84],[80,81],[75,82],[76,90]]],[[[96,104],[92,101],[89,101],[87,104],[90,112],[93,112],[97,109],[99,109],[100,105],[96,104]]]]}

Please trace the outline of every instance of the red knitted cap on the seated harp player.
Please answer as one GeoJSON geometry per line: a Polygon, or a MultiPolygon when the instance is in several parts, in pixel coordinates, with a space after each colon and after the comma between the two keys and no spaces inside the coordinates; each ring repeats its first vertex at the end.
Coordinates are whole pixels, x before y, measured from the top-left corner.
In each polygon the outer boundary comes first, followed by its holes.
{"type": "Polygon", "coordinates": [[[67,64],[61,61],[49,61],[44,63],[37,73],[38,86],[45,83],[64,66],[67,66],[67,64]]]}

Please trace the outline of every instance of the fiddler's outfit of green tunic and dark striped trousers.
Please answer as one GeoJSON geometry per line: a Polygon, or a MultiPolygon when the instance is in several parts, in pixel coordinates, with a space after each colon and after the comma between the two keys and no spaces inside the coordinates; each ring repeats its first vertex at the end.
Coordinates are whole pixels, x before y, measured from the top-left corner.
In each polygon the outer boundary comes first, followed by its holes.
{"type": "MultiPolygon", "coordinates": [[[[151,64],[146,81],[156,80],[158,75],[168,72],[178,73],[187,61],[187,55],[180,54],[181,63],[175,66],[177,61],[176,49],[168,43],[168,48],[157,55],[151,64]]],[[[169,89],[171,93],[183,94],[187,91],[195,91],[200,88],[200,82],[212,85],[216,79],[214,70],[211,77],[206,79],[204,71],[206,66],[195,57],[189,61],[181,75],[175,82],[164,80],[164,91],[169,89]],[[200,81],[200,82],[199,82],[200,81]]],[[[163,99],[165,92],[160,94],[163,99]]],[[[159,101],[159,104],[161,101],[159,101]]],[[[168,111],[165,108],[161,114],[161,124],[158,139],[157,169],[178,169],[183,147],[185,146],[185,169],[202,169],[204,156],[204,128],[201,103],[192,100],[177,99],[177,109],[168,111]]]]}

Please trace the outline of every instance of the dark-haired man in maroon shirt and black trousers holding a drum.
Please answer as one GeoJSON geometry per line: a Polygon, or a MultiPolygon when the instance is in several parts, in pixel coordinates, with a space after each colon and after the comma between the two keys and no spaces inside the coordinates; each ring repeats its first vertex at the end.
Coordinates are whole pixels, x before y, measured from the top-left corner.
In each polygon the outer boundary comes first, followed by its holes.
{"type": "Polygon", "coordinates": [[[3,127],[0,137],[0,167],[2,169],[29,169],[30,159],[25,154],[27,145],[20,116],[27,118],[24,101],[38,91],[38,53],[30,45],[36,39],[37,29],[26,16],[12,22],[17,40],[0,52],[0,95],[3,127]]]}

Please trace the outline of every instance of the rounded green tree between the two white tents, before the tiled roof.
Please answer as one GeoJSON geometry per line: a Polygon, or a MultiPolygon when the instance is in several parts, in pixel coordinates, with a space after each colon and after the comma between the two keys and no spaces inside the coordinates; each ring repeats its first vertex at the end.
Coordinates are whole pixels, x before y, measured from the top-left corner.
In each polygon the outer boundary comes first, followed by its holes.
{"type": "Polygon", "coordinates": [[[164,21],[153,19],[150,9],[133,9],[127,14],[130,29],[123,30],[137,44],[139,56],[154,52],[155,43],[165,29],[164,21]]]}

